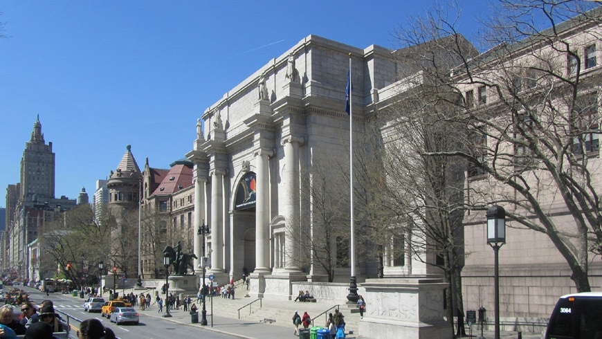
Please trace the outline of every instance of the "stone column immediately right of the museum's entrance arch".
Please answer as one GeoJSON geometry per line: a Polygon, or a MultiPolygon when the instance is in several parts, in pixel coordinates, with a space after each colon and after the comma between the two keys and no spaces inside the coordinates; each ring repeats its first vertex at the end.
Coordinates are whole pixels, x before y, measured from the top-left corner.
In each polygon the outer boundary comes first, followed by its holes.
{"type": "Polygon", "coordinates": [[[269,273],[270,267],[270,182],[269,157],[273,151],[259,149],[257,161],[257,193],[255,202],[255,273],[269,273]]]}

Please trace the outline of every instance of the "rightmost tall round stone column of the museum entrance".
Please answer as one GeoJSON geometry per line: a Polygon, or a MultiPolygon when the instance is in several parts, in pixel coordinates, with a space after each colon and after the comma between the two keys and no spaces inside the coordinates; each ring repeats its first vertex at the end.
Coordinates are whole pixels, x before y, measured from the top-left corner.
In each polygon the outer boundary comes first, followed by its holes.
{"type": "Polygon", "coordinates": [[[287,271],[300,271],[300,205],[299,205],[299,145],[303,138],[288,136],[282,139],[284,146],[284,199],[282,214],[286,218],[287,232],[284,240],[285,264],[287,271]]]}

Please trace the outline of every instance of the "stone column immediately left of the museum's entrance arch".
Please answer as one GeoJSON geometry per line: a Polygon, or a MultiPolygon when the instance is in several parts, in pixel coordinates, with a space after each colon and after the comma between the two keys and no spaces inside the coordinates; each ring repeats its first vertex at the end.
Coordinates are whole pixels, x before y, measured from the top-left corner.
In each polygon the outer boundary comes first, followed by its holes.
{"type": "Polygon", "coordinates": [[[224,175],[221,170],[211,172],[211,270],[223,273],[224,267],[224,175]]]}

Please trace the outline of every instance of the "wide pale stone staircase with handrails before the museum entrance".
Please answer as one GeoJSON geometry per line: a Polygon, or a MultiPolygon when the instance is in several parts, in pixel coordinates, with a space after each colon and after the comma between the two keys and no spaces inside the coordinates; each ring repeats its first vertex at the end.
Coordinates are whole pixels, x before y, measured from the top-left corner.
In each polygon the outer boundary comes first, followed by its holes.
{"type": "MultiPolygon", "coordinates": [[[[298,311],[299,315],[307,312],[313,320],[313,326],[324,327],[328,319],[328,313],[334,313],[336,303],[322,302],[293,302],[292,300],[261,300],[261,306],[257,299],[244,297],[246,294],[245,288],[237,290],[236,299],[225,299],[223,297],[213,297],[213,313],[230,318],[246,319],[255,322],[268,322],[278,326],[291,327],[293,325],[293,314],[298,311]],[[254,302],[255,301],[255,302],[254,302]],[[253,304],[250,304],[253,302],[253,304]],[[250,305],[248,305],[250,304],[250,305]],[[240,309],[240,310],[239,310],[240,309]],[[320,314],[327,311],[325,314],[320,314]]],[[[210,298],[207,299],[207,313],[211,312],[210,298]]],[[[199,310],[201,305],[197,305],[199,310]]],[[[358,322],[360,321],[359,313],[356,313],[357,307],[347,304],[339,304],[339,311],[345,315],[345,331],[347,333],[358,333],[358,322]]]]}

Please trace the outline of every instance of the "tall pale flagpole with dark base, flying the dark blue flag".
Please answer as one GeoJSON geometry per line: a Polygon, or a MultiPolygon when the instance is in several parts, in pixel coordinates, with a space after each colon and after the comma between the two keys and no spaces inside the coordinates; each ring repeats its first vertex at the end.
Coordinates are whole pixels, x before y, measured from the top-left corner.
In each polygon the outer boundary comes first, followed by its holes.
{"type": "Polygon", "coordinates": [[[352,53],[349,53],[349,75],[348,75],[348,89],[347,94],[349,95],[349,211],[351,215],[351,277],[349,279],[349,295],[347,300],[349,302],[358,301],[358,285],[356,279],[356,235],[355,235],[355,223],[354,223],[354,143],[353,143],[353,82],[352,82],[352,53]]]}

